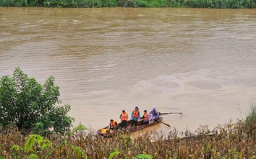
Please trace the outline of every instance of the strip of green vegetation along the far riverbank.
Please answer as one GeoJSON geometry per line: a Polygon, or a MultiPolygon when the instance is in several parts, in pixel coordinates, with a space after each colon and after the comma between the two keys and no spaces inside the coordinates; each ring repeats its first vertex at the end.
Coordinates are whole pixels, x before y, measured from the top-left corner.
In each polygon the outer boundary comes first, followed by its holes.
{"type": "Polygon", "coordinates": [[[0,6],[39,6],[60,8],[190,7],[243,9],[255,8],[256,0],[1,0],[0,6]]]}

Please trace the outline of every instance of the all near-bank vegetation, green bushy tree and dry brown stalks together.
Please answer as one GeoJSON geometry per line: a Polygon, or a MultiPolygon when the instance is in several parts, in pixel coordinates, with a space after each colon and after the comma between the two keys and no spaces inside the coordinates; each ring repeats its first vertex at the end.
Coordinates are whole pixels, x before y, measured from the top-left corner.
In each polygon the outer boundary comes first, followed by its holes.
{"type": "Polygon", "coordinates": [[[74,129],[70,106],[59,103],[59,87],[43,85],[20,68],[0,80],[0,159],[5,158],[256,158],[256,104],[245,119],[213,130],[119,132],[105,138],[82,124],[74,129]],[[31,119],[32,117],[32,119],[31,119]]]}

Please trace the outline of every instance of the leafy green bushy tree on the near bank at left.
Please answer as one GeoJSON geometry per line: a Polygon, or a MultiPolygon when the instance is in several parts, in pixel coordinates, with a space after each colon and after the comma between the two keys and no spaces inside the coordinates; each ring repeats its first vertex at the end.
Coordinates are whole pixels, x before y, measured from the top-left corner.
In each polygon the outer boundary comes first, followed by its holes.
{"type": "Polygon", "coordinates": [[[70,105],[59,106],[59,86],[50,76],[43,85],[28,78],[20,68],[13,76],[0,80],[0,126],[16,126],[34,133],[61,133],[70,130],[74,118],[69,117],[70,105]]]}

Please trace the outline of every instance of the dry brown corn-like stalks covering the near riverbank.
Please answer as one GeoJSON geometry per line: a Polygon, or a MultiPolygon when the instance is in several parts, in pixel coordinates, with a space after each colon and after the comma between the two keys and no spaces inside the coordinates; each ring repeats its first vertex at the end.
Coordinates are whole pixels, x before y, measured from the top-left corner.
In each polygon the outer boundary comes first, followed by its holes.
{"type": "MultiPolygon", "coordinates": [[[[150,132],[132,139],[129,135],[119,134],[112,138],[103,138],[93,131],[77,132],[66,145],[59,147],[51,158],[133,158],[140,154],[150,155],[152,158],[255,158],[256,138],[255,122],[247,124],[241,120],[227,123],[213,130],[200,127],[195,133],[172,130],[168,135],[150,132]],[[69,145],[79,147],[85,154],[79,156],[77,151],[69,145]]],[[[19,158],[33,151],[22,152],[12,149],[12,145],[25,147],[27,137],[17,130],[0,130],[0,156],[4,158],[19,158]]],[[[46,137],[53,147],[46,147],[42,151],[34,152],[40,158],[45,158],[48,152],[54,150],[62,140],[61,137],[46,137]]],[[[35,145],[40,147],[40,145],[35,145]]],[[[39,149],[38,149],[39,150],[39,149]]]]}

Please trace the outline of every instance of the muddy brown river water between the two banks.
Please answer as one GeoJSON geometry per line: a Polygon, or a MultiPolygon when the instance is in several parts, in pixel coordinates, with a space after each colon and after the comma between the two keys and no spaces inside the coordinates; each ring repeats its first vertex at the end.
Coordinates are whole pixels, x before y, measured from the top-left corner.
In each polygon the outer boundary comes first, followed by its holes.
{"type": "Polygon", "coordinates": [[[0,76],[54,76],[69,115],[98,130],[155,106],[153,129],[210,129],[256,99],[256,9],[0,8],[0,76]]]}

